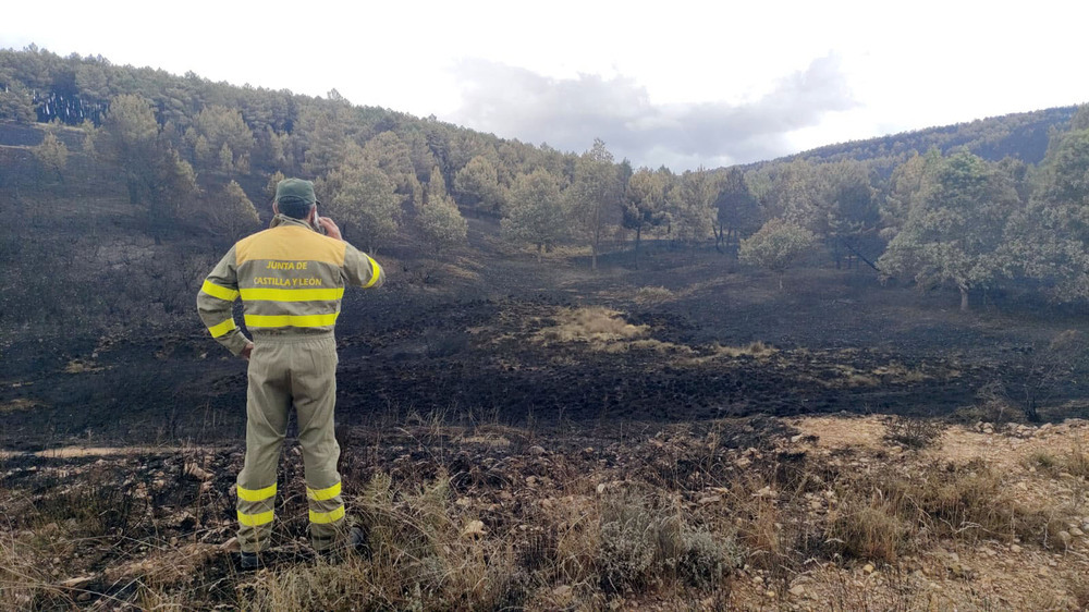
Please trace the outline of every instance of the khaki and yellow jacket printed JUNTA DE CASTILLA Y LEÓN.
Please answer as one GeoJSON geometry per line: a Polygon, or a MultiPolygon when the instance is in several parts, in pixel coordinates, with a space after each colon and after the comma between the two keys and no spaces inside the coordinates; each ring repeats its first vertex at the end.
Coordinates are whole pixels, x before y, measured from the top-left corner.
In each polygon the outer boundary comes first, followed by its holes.
{"type": "Polygon", "coordinates": [[[278,215],[216,265],[197,294],[197,310],[212,338],[237,355],[248,341],[234,321],[236,298],[255,336],[329,333],[345,285],[370,289],[384,281],[382,267],[366,253],[278,215]]]}

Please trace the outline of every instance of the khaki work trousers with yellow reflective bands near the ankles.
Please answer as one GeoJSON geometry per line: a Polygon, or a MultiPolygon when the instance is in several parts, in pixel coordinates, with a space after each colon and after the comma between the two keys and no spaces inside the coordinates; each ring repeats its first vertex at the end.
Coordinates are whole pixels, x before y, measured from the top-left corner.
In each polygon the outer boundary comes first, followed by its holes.
{"type": "Polygon", "coordinates": [[[255,336],[246,401],[246,462],[238,474],[238,542],[244,552],[269,546],[276,516],[277,467],[292,405],[303,446],[310,541],[333,546],[344,524],[340,445],[333,432],[337,343],[321,335],[255,336]]]}

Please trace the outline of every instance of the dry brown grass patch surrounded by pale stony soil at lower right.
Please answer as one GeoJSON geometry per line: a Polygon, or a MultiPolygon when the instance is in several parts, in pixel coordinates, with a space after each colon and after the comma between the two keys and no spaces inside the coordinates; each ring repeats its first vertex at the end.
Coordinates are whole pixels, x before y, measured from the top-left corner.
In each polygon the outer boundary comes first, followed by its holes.
{"type": "Polygon", "coordinates": [[[823,461],[754,469],[729,488],[722,522],[737,527],[747,563],[773,579],[788,582],[812,559],[895,565],[950,542],[1054,546],[1070,518],[1059,504],[1018,498],[1005,473],[981,461],[861,470],[823,461]]]}

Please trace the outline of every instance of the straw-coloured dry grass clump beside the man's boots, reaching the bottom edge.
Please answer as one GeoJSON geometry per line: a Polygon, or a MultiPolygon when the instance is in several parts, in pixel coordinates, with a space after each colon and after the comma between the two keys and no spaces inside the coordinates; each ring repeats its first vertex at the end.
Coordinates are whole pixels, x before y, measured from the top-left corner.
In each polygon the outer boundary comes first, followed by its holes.
{"type": "Polygon", "coordinates": [[[295,566],[242,585],[245,610],[479,610],[519,607],[514,550],[454,521],[449,480],[395,491],[377,474],[360,500],[369,554],[295,566]]]}

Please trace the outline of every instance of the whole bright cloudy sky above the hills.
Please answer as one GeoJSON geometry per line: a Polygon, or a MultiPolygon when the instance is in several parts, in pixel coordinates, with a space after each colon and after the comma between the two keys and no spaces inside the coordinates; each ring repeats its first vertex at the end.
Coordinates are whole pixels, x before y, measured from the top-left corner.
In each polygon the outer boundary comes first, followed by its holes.
{"type": "Polygon", "coordinates": [[[3,13],[0,47],[337,88],[563,150],[600,137],[617,158],[677,170],[1089,101],[1085,0],[54,0],[3,13]]]}

